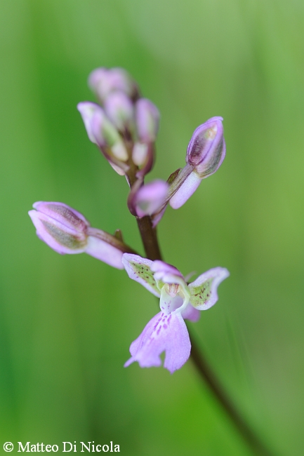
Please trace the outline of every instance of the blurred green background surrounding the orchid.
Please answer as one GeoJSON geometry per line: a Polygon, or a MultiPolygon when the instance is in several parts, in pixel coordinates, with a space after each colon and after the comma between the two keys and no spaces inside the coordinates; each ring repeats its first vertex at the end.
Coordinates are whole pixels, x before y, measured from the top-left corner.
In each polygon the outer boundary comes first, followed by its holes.
{"type": "MultiPolygon", "coordinates": [[[[242,413],[276,455],[304,448],[304,3],[3,0],[0,452],[6,441],[119,444],[121,454],[250,455],[189,361],[122,366],[154,297],[88,255],[39,241],[27,211],[62,201],[143,253],[79,101],[95,67],[125,67],[160,109],[148,180],[183,166],[194,128],[223,116],[227,156],[159,225],[184,274],[230,270],[192,325],[242,413]]],[[[15,452],[16,450],[14,450],[15,452]]]]}

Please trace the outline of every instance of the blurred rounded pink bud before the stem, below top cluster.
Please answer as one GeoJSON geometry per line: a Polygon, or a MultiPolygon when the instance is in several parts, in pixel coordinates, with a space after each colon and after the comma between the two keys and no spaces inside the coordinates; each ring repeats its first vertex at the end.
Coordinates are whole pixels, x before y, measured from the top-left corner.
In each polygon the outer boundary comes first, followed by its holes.
{"type": "Polygon", "coordinates": [[[140,187],[133,196],[133,207],[138,217],[152,215],[163,205],[168,192],[168,184],[164,180],[154,180],[140,187]]]}

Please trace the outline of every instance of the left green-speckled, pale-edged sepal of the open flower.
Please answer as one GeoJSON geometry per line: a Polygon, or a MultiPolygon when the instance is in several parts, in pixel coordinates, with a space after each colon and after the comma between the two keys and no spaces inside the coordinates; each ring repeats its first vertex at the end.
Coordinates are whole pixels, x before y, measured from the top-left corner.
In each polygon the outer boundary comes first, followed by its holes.
{"type": "Polygon", "coordinates": [[[122,263],[130,279],[141,283],[153,295],[159,297],[159,289],[154,279],[154,274],[151,270],[152,261],[147,258],[142,258],[139,255],[132,253],[124,253],[122,263]]]}

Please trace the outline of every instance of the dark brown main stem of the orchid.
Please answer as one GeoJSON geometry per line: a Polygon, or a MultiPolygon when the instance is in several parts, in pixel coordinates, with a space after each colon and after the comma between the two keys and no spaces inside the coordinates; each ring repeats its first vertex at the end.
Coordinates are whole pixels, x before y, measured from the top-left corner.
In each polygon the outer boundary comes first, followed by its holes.
{"type": "MultiPolygon", "coordinates": [[[[136,219],[147,258],[149,258],[149,260],[162,260],[156,229],[152,228],[151,218],[147,216],[143,218],[136,217],[136,219]]],[[[190,356],[199,375],[201,375],[201,378],[216,396],[228,417],[230,417],[230,420],[244,438],[244,441],[246,441],[254,454],[258,456],[272,456],[272,452],[265,448],[263,442],[260,441],[253,429],[251,429],[249,424],[247,424],[244,418],[239,414],[232,400],[227,396],[218,378],[206,361],[206,358],[201,354],[201,351],[197,347],[191,334],[190,341],[192,346],[190,356]]]]}

